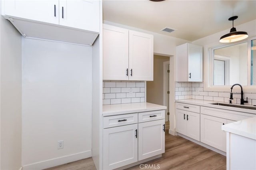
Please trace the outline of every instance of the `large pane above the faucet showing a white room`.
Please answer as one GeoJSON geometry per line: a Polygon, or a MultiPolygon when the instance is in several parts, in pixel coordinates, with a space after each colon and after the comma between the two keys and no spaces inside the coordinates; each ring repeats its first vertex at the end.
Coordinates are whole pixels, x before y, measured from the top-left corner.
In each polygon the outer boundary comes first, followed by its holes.
{"type": "Polygon", "coordinates": [[[247,85],[247,49],[247,42],[214,49],[213,85],[247,85]]]}

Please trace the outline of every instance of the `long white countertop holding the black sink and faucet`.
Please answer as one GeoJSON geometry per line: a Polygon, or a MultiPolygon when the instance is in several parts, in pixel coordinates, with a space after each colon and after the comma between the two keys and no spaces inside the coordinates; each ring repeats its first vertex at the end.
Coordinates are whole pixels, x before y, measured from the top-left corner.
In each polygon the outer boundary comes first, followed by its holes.
{"type": "MultiPolygon", "coordinates": [[[[224,102],[218,102],[218,101],[183,99],[183,100],[175,100],[175,102],[186,103],[186,104],[191,104],[191,105],[199,105],[199,106],[205,106],[205,107],[214,107],[217,109],[225,109],[225,110],[230,110],[230,111],[252,113],[252,114],[256,115],[256,110],[253,110],[253,109],[244,109],[244,108],[239,108],[239,107],[230,107],[230,106],[221,106],[221,105],[211,105],[210,104],[210,103],[224,103],[224,102]]],[[[240,105],[240,104],[232,103],[232,105],[240,105]]],[[[244,106],[246,106],[246,105],[244,105],[244,106]]],[[[252,106],[252,105],[247,105],[247,106],[252,106]]]]}

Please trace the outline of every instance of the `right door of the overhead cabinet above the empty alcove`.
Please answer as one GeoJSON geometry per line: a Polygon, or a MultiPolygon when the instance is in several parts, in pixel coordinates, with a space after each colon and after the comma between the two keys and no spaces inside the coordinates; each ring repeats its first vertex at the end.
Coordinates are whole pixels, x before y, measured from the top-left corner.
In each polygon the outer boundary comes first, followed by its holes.
{"type": "Polygon", "coordinates": [[[60,25],[99,32],[98,0],[60,0],[60,25]]]}

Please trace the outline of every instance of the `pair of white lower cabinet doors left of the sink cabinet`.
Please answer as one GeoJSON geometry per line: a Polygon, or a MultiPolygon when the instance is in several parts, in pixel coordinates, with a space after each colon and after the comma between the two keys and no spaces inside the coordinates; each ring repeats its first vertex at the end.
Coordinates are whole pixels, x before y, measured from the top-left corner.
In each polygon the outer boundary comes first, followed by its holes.
{"type": "Polygon", "coordinates": [[[200,114],[176,109],[176,131],[200,140],[200,114]]]}

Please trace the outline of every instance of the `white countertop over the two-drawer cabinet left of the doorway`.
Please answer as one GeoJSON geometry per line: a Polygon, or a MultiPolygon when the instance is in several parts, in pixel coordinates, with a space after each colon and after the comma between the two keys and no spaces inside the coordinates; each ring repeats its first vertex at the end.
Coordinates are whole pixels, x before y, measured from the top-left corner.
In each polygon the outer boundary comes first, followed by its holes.
{"type": "Polygon", "coordinates": [[[103,105],[103,116],[122,115],[127,113],[137,113],[146,111],[164,110],[166,106],[153,103],[125,103],[116,105],[103,105]]]}

